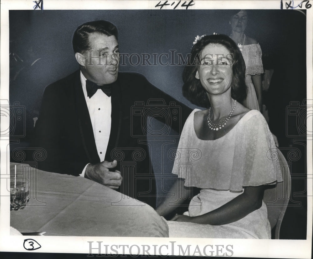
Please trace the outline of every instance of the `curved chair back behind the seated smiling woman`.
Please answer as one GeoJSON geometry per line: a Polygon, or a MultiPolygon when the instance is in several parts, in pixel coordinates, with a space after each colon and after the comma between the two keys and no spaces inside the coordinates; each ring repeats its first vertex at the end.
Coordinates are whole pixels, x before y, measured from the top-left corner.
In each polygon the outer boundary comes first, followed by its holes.
{"type": "Polygon", "coordinates": [[[275,228],[275,239],[279,239],[280,225],[284,218],[291,192],[290,169],[283,154],[278,149],[277,152],[276,170],[277,174],[281,173],[283,181],[267,188],[263,197],[263,201],[267,206],[267,216],[271,229],[275,228]]]}

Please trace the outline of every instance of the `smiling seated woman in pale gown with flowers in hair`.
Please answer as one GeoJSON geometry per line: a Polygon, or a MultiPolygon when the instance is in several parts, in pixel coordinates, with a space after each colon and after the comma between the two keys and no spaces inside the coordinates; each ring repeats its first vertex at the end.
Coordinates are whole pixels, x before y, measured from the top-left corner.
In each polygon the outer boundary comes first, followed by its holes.
{"type": "Polygon", "coordinates": [[[201,188],[188,211],[167,221],[170,237],[270,238],[264,187],[281,181],[268,151],[276,149],[259,111],[243,106],[245,65],[226,35],[204,36],[194,44],[183,73],[183,94],[195,109],[183,128],[173,174],[175,196],[157,208],[167,215],[201,188]]]}

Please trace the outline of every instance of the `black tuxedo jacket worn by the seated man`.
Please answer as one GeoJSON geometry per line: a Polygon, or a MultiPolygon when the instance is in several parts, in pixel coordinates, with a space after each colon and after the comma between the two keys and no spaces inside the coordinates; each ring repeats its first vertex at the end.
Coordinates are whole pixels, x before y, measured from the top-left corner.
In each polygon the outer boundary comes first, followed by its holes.
{"type": "MultiPolygon", "coordinates": [[[[136,73],[118,74],[111,104],[105,160],[118,161],[114,169],[123,176],[121,193],[155,207],[156,185],[146,144],[146,117],[152,115],[179,131],[191,109],[136,73]],[[153,106],[151,102],[156,101],[149,99],[164,103],[153,106]]],[[[100,162],[79,70],[45,88],[32,146],[46,150],[46,158],[38,162],[38,168],[45,171],[78,176],[87,163],[100,162]]]]}

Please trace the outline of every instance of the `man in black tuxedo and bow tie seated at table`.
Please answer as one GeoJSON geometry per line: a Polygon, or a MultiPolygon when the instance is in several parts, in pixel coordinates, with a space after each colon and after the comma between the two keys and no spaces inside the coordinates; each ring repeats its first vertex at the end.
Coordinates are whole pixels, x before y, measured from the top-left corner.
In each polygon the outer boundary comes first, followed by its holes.
{"type": "Polygon", "coordinates": [[[83,176],[155,207],[144,116],[138,120],[132,107],[140,102],[144,113],[149,99],[163,100],[169,112],[169,105],[177,107],[180,118],[169,122],[176,131],[191,109],[144,76],[118,72],[117,34],[115,25],[103,20],[76,29],[72,43],[80,70],[45,88],[32,146],[47,152],[39,169],[83,176]]]}

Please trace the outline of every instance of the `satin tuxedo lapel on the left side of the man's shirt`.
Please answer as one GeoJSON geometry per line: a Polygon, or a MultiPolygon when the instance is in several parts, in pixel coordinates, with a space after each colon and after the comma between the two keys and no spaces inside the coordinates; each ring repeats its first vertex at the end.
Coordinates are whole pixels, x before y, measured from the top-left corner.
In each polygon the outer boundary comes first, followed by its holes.
{"type": "Polygon", "coordinates": [[[99,163],[100,158],[97,152],[89,111],[80,81],[80,72],[75,76],[74,91],[79,130],[87,158],[90,163],[99,163]]]}

